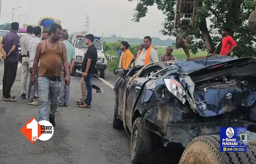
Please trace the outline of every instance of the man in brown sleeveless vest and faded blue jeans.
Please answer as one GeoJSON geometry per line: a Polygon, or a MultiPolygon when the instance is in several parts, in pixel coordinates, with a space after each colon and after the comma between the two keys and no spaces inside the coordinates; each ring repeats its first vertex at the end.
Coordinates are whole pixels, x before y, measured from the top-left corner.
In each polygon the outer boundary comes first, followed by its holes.
{"type": "Polygon", "coordinates": [[[66,73],[64,78],[66,86],[70,84],[70,75],[66,47],[64,43],[60,42],[62,27],[58,24],[52,24],[49,34],[50,39],[44,40],[37,45],[30,81],[34,84],[36,68],[40,59],[38,74],[39,121],[47,119],[48,94],[50,93],[49,121],[55,126],[55,112],[58,106],[58,93],[60,92],[62,81],[62,63],[66,73]]]}

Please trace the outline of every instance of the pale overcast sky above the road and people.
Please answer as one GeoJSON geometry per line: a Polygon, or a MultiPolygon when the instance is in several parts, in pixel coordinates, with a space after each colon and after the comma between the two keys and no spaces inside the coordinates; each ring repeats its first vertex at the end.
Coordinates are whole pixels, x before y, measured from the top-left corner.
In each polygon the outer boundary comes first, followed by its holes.
{"type": "Polygon", "coordinates": [[[128,0],[2,0],[0,23],[11,22],[12,8],[15,9],[14,21],[21,24],[24,18],[31,17],[33,24],[37,24],[41,17],[53,17],[60,19],[63,28],[69,32],[84,30],[85,18],[89,13],[90,31],[96,35],[109,36],[117,34],[122,37],[139,37],[151,35],[167,39],[160,34],[164,15],[156,6],[149,8],[149,12],[141,22],[131,21],[136,1],[128,0]]]}

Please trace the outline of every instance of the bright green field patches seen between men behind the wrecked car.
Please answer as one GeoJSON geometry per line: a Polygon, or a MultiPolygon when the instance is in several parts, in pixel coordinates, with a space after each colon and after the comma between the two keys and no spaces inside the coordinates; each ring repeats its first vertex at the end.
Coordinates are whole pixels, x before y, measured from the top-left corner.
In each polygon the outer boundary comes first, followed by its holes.
{"type": "MultiPolygon", "coordinates": [[[[159,57],[159,60],[160,60],[160,57],[165,54],[165,48],[158,48],[158,49],[156,49],[156,51],[158,53],[158,57],[159,57]]],[[[172,55],[174,55],[178,60],[186,59],[185,52],[183,51],[182,48],[174,49],[172,55]]],[[[206,55],[207,55],[206,51],[200,51],[199,50],[198,53],[195,54],[195,55],[190,54],[190,58],[195,58],[195,57],[198,57],[198,56],[206,56],[206,55]]]]}

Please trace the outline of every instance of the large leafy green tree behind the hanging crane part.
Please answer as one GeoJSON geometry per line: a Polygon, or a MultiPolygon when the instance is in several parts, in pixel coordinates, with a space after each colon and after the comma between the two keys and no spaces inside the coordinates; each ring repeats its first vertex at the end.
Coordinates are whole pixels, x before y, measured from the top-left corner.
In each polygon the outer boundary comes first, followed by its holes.
{"type": "MultiPolygon", "coordinates": [[[[133,0],[128,0],[133,1],[133,0]]],[[[229,26],[232,35],[238,43],[234,55],[256,56],[256,36],[248,28],[248,17],[254,10],[253,0],[198,0],[198,23],[195,29],[190,30],[193,38],[190,50],[196,53],[199,49],[214,53],[222,36],[222,26],[229,26]],[[209,24],[207,24],[209,22],[209,24]]],[[[146,16],[148,6],[156,4],[157,8],[165,14],[162,24],[163,35],[176,36],[174,27],[176,0],[138,0],[133,14],[133,21],[146,16]]]]}

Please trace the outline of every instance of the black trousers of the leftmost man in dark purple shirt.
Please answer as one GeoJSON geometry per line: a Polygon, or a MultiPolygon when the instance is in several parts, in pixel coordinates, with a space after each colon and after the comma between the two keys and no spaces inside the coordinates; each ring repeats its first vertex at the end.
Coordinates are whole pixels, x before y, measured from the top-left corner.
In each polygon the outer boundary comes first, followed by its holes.
{"type": "Polygon", "coordinates": [[[10,98],[11,87],[16,78],[18,63],[4,60],[3,98],[10,98]]]}

